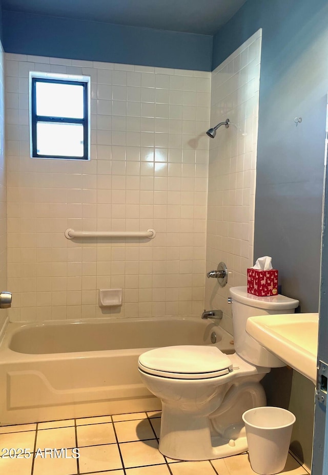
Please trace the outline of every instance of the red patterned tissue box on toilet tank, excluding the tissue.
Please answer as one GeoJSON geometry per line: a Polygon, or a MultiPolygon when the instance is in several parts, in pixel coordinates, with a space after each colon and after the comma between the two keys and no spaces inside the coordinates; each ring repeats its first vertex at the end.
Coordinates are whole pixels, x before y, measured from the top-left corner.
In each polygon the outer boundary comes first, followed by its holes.
{"type": "Polygon", "coordinates": [[[247,269],[247,291],[258,297],[268,297],[278,293],[277,269],[247,269]]]}

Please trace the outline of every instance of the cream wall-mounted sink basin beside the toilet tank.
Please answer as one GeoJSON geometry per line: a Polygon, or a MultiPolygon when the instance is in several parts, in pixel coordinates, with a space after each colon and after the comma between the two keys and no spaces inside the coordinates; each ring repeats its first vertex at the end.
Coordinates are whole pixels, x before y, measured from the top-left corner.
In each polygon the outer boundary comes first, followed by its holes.
{"type": "Polygon", "coordinates": [[[318,313],[250,317],[246,331],[262,347],[316,383],[318,313]]]}

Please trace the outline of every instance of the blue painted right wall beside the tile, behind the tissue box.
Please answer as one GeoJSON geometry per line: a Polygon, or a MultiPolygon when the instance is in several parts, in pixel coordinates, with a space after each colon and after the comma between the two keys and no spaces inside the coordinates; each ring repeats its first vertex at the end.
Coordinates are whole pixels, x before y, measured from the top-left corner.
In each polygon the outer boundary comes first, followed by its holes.
{"type": "Polygon", "coordinates": [[[326,0],[248,0],[214,37],[213,68],[262,28],[254,257],[272,255],[302,312],[319,301],[328,90],[326,0]],[[302,123],[294,123],[302,117],[302,123]],[[304,269],[311,269],[309,278],[304,269]]]}

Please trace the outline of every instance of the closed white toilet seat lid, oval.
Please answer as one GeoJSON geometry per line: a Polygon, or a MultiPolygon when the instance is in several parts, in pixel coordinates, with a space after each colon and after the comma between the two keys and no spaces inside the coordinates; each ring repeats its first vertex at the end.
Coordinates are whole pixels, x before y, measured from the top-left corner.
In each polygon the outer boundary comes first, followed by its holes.
{"type": "Polygon", "coordinates": [[[218,348],[194,345],[155,348],[139,356],[138,366],[145,373],[175,379],[214,378],[232,370],[232,362],[218,348]]]}

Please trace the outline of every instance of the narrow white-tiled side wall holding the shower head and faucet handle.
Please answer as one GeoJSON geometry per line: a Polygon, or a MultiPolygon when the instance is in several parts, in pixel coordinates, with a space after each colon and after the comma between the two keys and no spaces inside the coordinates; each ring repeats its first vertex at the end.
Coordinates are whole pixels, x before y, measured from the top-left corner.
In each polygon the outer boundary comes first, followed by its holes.
{"type": "Polygon", "coordinates": [[[253,266],[261,39],[260,29],[212,73],[211,127],[227,118],[230,126],[210,139],[206,269],[224,261],[229,277],[223,288],[207,279],[205,306],[223,311],[230,333],[229,288],[245,285],[253,266]]]}

